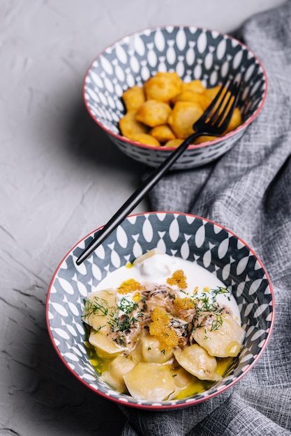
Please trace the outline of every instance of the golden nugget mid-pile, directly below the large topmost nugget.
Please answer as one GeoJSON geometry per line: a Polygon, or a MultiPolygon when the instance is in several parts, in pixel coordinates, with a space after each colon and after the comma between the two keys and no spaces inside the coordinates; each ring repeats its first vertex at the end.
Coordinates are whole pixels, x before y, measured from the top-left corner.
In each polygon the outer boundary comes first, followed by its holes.
{"type": "Polygon", "coordinates": [[[149,125],[149,127],[156,127],[156,125],[167,124],[167,118],[172,109],[169,104],[158,100],[147,100],[137,110],[135,119],[149,125]]]}

